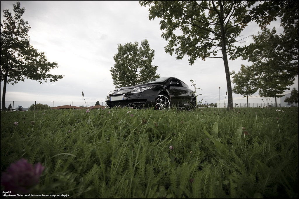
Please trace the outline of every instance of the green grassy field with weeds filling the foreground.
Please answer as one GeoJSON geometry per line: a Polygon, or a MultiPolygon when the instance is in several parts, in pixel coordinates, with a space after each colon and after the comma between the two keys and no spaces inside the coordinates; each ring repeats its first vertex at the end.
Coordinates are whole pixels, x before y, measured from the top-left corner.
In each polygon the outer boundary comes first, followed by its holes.
{"type": "Polygon", "coordinates": [[[1,112],[1,184],[7,176],[28,178],[10,167],[22,158],[43,166],[40,176],[30,173],[37,185],[1,191],[67,198],[298,198],[298,107],[89,111],[1,112]]]}

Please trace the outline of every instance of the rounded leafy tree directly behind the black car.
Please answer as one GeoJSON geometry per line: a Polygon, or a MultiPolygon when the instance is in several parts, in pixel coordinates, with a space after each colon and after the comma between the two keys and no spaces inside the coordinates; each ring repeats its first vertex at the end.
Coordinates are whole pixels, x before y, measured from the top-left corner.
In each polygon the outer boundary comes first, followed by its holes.
{"type": "Polygon", "coordinates": [[[134,44],[132,42],[125,45],[118,45],[118,52],[113,59],[114,67],[110,72],[115,87],[138,84],[152,78],[158,78],[156,74],[158,66],[152,66],[155,51],[150,49],[148,41],[145,39],[134,44]]]}

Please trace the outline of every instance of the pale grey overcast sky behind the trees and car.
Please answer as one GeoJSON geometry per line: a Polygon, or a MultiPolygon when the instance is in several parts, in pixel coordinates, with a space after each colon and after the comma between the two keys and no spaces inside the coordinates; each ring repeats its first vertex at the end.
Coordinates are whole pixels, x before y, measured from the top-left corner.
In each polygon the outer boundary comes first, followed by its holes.
{"type": "MultiPolygon", "coordinates": [[[[161,38],[160,19],[150,21],[147,7],[141,7],[139,1],[19,1],[25,7],[23,18],[29,22],[30,44],[39,52],[45,52],[48,61],[57,62],[59,68],[51,74],[65,75],[57,82],[39,84],[26,79],[18,84],[7,84],[6,102],[36,103],[60,101],[59,105],[83,105],[84,97],[89,106],[96,101],[105,104],[108,91],[114,88],[110,68],[115,64],[113,56],[118,44],[147,39],[151,49],[155,50],[152,65],[158,66],[160,77],[176,77],[193,89],[190,79],[195,80],[198,100],[204,103],[216,103],[225,98],[227,91],[224,64],[220,58],[198,59],[192,66],[188,57],[176,60],[176,56],[165,53],[167,41],[161,38]],[[220,89],[219,89],[220,87],[220,89]],[[82,103],[81,103],[82,102],[82,103]],[[81,104],[80,104],[81,103],[81,104]]],[[[1,1],[1,22],[3,10],[13,14],[16,1],[1,1]]],[[[279,24],[279,23],[274,23],[279,24]]],[[[272,25],[273,26],[273,25],[272,25]]],[[[280,27],[276,27],[279,31],[280,27]]],[[[249,24],[243,37],[257,33],[260,29],[249,24]]],[[[245,44],[252,39],[245,40],[245,44]]],[[[240,70],[241,64],[251,65],[245,60],[228,61],[230,71],[240,70]]],[[[234,85],[232,84],[232,87],[234,85]]],[[[298,77],[292,89],[298,90],[298,77]]],[[[2,100],[3,82],[1,82],[2,100]]],[[[257,94],[257,93],[256,93],[257,94]]],[[[233,93],[233,97],[240,97],[233,93]]],[[[8,107],[6,104],[6,107],[8,107]]],[[[22,104],[22,103],[21,103],[22,104]]],[[[27,106],[26,103],[25,107],[27,106]]],[[[20,104],[19,104],[20,105],[20,104]]],[[[23,106],[24,107],[24,106],[23,106]]]]}

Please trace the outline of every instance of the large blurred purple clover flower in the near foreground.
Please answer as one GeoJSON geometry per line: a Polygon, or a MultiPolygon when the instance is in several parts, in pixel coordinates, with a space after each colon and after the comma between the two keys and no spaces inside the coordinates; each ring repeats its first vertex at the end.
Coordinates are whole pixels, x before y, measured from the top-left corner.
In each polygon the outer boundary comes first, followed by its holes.
{"type": "Polygon", "coordinates": [[[41,163],[33,166],[22,158],[12,163],[6,172],[2,172],[1,186],[4,186],[5,191],[11,191],[13,194],[28,193],[30,188],[38,184],[43,170],[41,163]]]}

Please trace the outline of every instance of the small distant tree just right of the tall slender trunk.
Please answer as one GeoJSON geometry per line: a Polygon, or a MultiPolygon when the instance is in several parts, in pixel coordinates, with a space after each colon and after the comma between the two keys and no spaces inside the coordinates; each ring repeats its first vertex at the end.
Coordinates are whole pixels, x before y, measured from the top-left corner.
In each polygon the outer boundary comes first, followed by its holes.
{"type": "Polygon", "coordinates": [[[236,73],[234,70],[231,72],[232,82],[236,84],[233,88],[233,92],[241,94],[247,98],[248,107],[248,95],[252,95],[257,92],[257,78],[254,75],[254,71],[251,68],[241,65],[240,72],[236,73]]]}

